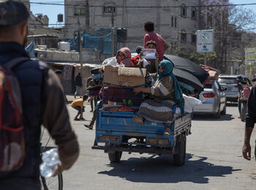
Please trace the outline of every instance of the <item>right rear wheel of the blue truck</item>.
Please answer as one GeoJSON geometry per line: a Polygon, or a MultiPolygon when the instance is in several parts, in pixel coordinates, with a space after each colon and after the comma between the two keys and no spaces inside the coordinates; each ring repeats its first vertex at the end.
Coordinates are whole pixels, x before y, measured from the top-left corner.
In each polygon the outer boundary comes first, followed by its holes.
{"type": "Polygon", "coordinates": [[[176,148],[178,153],[173,154],[173,164],[175,166],[183,166],[185,164],[186,156],[186,135],[181,134],[181,142],[176,142],[176,148]]]}

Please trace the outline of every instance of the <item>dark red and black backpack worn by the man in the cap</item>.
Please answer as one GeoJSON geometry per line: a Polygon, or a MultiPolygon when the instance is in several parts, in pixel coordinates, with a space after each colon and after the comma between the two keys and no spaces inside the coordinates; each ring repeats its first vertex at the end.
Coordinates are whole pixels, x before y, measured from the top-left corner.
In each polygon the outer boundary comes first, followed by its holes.
{"type": "Polygon", "coordinates": [[[0,65],[0,174],[18,170],[25,158],[20,86],[12,68],[29,60],[15,58],[0,65]]]}

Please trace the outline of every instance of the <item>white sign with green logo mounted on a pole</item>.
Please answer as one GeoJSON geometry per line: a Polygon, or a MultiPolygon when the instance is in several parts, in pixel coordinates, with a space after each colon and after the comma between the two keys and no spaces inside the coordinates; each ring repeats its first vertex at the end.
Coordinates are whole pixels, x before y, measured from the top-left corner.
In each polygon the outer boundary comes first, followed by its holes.
{"type": "Polygon", "coordinates": [[[214,30],[197,31],[197,53],[214,51],[214,30]]]}

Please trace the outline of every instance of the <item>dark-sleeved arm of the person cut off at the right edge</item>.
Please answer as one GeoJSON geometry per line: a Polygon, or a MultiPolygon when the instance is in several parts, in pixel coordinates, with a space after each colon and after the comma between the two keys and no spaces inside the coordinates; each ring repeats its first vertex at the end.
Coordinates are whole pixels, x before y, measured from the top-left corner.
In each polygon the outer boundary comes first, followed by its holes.
{"type": "MultiPolygon", "coordinates": [[[[246,113],[246,118],[245,118],[243,156],[244,156],[244,159],[250,160],[252,158],[250,138],[251,138],[252,130],[256,123],[256,85],[252,86],[252,90],[249,94],[249,98],[247,101],[247,107],[248,107],[248,111],[246,113]]],[[[255,156],[256,156],[256,148],[255,148],[255,156]]]]}

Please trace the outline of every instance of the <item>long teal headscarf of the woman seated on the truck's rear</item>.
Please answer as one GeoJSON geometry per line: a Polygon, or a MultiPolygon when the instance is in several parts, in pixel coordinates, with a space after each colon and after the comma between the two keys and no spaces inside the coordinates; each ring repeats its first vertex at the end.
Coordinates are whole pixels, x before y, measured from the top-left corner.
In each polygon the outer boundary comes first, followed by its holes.
{"type": "Polygon", "coordinates": [[[168,60],[163,60],[158,65],[162,67],[163,71],[161,73],[158,72],[157,77],[161,79],[162,77],[172,77],[173,78],[173,88],[174,88],[174,97],[176,99],[176,104],[181,107],[181,114],[184,113],[184,99],[183,99],[183,92],[181,91],[181,87],[178,85],[178,80],[176,79],[175,75],[173,75],[173,64],[168,60]]]}

